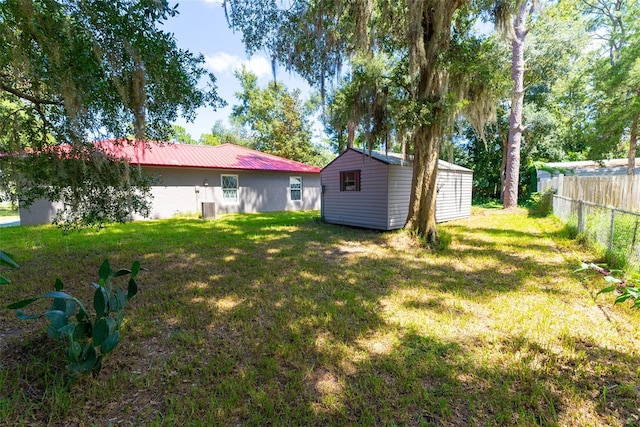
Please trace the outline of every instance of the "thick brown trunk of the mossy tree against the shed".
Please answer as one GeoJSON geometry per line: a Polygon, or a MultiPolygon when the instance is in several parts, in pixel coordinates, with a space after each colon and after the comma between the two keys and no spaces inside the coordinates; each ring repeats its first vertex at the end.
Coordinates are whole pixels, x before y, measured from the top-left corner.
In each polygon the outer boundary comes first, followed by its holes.
{"type": "Polygon", "coordinates": [[[454,12],[464,0],[409,0],[409,64],[417,80],[419,105],[429,106],[430,117],[413,131],[413,180],[405,228],[438,244],[436,177],[440,138],[447,125],[449,74],[439,58],[449,48],[454,12]]]}

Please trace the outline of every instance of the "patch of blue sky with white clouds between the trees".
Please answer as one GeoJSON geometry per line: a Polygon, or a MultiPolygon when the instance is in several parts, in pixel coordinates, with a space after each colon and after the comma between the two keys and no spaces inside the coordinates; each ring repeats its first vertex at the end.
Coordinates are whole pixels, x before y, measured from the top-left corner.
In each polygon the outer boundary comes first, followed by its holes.
{"type": "MultiPolygon", "coordinates": [[[[182,0],[178,11],[177,16],[163,25],[164,30],[175,35],[178,47],[205,56],[206,68],[216,76],[218,95],[227,101],[227,106],[217,111],[211,107],[200,108],[191,123],[183,119],[176,122],[197,140],[202,133],[209,133],[217,120],[228,123],[231,107],[237,102],[234,94],[240,91],[234,71],[245,65],[258,76],[258,84],[265,86],[273,78],[271,62],[265,52],[247,56],[242,34],[233,32],[227,25],[222,0],[182,0]]],[[[309,86],[298,76],[279,70],[277,78],[288,89],[298,88],[308,96],[309,86]]]]}

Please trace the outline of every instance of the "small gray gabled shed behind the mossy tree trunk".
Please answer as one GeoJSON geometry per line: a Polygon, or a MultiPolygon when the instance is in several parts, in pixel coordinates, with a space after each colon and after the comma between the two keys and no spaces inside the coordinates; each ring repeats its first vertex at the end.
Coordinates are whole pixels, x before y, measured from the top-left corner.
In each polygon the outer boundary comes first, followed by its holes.
{"type": "MultiPolygon", "coordinates": [[[[409,212],[413,164],[401,155],[350,148],[322,172],[322,217],[376,230],[402,228],[409,212]]],[[[436,221],[471,215],[473,171],[438,161],[436,221]]]]}

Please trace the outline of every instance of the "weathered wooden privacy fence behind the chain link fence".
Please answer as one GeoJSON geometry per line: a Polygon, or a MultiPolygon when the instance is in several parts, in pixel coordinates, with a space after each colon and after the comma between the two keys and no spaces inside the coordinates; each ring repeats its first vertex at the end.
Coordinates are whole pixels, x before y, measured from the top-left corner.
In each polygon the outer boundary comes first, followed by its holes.
{"type": "Polygon", "coordinates": [[[640,212],[640,175],[557,176],[544,183],[558,196],[640,212]]]}

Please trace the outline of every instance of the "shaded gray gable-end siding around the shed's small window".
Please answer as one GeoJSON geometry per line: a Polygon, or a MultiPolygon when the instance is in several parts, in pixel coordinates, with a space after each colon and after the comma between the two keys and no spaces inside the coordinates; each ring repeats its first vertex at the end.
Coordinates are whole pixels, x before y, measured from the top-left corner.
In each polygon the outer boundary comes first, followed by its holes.
{"type": "Polygon", "coordinates": [[[387,218],[387,165],[347,151],[320,173],[323,195],[324,220],[334,224],[388,229],[387,218]],[[340,172],[360,172],[360,191],[340,191],[340,172]]]}

